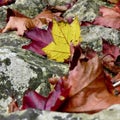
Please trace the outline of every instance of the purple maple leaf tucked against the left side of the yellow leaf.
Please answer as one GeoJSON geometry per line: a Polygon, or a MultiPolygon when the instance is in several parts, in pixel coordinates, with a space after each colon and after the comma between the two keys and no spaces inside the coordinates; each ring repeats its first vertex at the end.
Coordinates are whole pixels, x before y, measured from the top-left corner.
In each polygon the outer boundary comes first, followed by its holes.
{"type": "Polygon", "coordinates": [[[53,40],[51,29],[52,23],[49,23],[47,30],[35,27],[30,31],[26,31],[25,37],[31,39],[31,43],[22,46],[22,48],[33,51],[40,55],[45,55],[45,53],[42,51],[42,48],[47,46],[53,40]]]}

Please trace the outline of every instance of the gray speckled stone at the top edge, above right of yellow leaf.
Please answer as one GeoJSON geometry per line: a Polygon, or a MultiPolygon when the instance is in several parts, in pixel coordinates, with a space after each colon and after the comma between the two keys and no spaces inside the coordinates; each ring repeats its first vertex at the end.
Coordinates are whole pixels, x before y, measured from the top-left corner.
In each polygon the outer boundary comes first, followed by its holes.
{"type": "Polygon", "coordinates": [[[106,2],[102,0],[78,0],[72,8],[64,13],[64,17],[77,16],[80,21],[93,21],[98,15],[100,5],[106,5],[106,2]]]}

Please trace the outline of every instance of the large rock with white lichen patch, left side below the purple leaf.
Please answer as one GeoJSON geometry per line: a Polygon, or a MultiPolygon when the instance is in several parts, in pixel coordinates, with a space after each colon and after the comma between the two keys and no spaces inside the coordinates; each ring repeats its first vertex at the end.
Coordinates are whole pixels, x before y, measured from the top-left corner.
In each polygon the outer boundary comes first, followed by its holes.
{"type": "Polygon", "coordinates": [[[0,47],[0,106],[7,108],[9,96],[18,101],[27,88],[49,93],[48,78],[67,73],[67,65],[49,61],[30,51],[16,47],[0,47]]]}

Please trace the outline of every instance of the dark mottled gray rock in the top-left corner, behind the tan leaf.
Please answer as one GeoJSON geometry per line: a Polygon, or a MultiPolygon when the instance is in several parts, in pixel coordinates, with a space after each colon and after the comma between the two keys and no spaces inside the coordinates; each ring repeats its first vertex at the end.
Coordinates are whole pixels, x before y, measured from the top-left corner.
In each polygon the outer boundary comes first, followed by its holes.
{"type": "Polygon", "coordinates": [[[14,4],[0,7],[0,28],[6,24],[6,9],[11,8],[19,11],[20,13],[33,18],[45,7],[44,0],[16,0],[14,4]]]}

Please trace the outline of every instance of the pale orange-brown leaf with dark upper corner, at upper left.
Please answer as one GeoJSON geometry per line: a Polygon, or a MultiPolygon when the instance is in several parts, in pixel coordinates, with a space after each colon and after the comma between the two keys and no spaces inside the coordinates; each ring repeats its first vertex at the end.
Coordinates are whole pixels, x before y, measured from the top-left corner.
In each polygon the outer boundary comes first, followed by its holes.
{"type": "Polygon", "coordinates": [[[9,30],[17,30],[17,34],[23,36],[27,29],[35,27],[31,18],[19,13],[16,10],[10,8],[7,9],[7,25],[3,28],[2,33],[9,30]]]}

